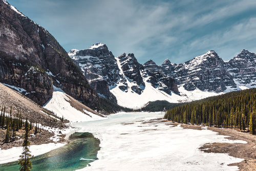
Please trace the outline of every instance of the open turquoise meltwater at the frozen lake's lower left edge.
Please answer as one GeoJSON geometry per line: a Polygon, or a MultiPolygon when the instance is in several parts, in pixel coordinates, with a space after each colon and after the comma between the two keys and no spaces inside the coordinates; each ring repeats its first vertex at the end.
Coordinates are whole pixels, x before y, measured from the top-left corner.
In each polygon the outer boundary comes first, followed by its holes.
{"type": "MultiPolygon", "coordinates": [[[[71,142],[63,147],[34,157],[32,170],[75,170],[86,167],[93,160],[97,160],[100,141],[93,137],[91,133],[74,133],[70,136],[71,142]],[[80,160],[92,159],[92,160],[80,160]]],[[[18,170],[17,162],[0,165],[1,171],[18,170]]]]}

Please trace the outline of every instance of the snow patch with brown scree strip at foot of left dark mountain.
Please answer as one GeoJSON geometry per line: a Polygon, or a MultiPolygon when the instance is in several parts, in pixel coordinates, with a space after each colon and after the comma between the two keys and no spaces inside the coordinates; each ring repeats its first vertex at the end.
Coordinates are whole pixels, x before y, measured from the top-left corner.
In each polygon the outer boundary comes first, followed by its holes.
{"type": "Polygon", "coordinates": [[[54,112],[57,116],[71,122],[82,122],[103,119],[103,115],[93,111],[59,88],[54,88],[53,96],[44,108],[54,112]]]}

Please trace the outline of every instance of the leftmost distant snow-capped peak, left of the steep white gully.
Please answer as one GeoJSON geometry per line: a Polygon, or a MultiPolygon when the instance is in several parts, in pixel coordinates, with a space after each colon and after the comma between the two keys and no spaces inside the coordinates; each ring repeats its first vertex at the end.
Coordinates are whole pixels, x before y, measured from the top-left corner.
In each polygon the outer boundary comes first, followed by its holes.
{"type": "Polygon", "coordinates": [[[106,45],[95,44],[86,50],[70,50],[69,56],[78,63],[90,86],[98,95],[116,102],[109,88],[115,87],[122,75],[116,59],[106,45]]]}

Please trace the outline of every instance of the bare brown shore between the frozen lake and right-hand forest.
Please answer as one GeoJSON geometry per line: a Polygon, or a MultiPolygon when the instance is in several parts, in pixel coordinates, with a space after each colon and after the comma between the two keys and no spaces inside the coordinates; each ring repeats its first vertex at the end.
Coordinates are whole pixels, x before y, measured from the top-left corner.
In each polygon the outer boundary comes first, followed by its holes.
{"type": "Polygon", "coordinates": [[[199,149],[205,153],[226,153],[229,156],[244,159],[239,163],[229,164],[230,166],[238,166],[240,170],[255,171],[256,170],[256,136],[245,132],[239,132],[232,129],[209,127],[203,125],[190,125],[184,123],[173,123],[181,125],[184,129],[193,130],[211,130],[219,135],[228,136],[229,140],[243,140],[247,143],[206,143],[199,149]]]}

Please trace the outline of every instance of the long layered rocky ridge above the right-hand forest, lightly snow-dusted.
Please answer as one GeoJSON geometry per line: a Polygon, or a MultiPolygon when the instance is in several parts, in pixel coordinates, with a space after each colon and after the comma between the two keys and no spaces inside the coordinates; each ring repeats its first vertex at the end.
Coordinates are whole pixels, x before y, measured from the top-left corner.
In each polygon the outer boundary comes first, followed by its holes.
{"type": "Polygon", "coordinates": [[[215,51],[180,64],[166,61],[160,70],[175,78],[178,86],[187,91],[199,89],[219,93],[241,90],[240,86],[256,87],[256,55],[244,49],[227,62],[215,51]]]}

